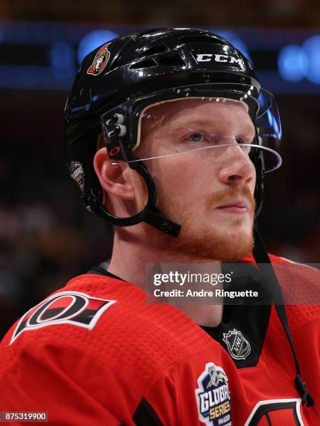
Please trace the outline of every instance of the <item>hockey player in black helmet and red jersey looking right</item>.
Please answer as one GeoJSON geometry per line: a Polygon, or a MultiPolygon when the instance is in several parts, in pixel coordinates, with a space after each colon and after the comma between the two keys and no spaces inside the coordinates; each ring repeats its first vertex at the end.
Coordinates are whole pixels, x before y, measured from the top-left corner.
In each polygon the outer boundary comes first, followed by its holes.
{"type": "MultiPolygon", "coordinates": [[[[319,307],[284,306],[294,265],[256,227],[281,127],[248,60],[208,31],[116,38],[84,59],[65,123],[68,170],[114,226],[113,254],[10,329],[0,411],[46,411],[53,425],[319,425],[319,307]],[[263,304],[147,293],[169,263],[218,279],[227,262],[263,304]]],[[[319,282],[294,274],[310,292],[319,282]]]]}

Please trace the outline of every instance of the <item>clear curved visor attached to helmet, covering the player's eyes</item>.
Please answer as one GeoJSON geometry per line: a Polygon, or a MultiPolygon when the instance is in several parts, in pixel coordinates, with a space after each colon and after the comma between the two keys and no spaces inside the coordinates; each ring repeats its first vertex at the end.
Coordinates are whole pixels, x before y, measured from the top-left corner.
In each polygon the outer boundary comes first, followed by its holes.
{"type": "Polygon", "coordinates": [[[211,96],[187,93],[139,111],[135,159],[129,163],[187,155],[191,161],[241,156],[255,162],[259,157],[266,173],[281,165],[281,126],[271,93],[262,91],[259,104],[245,94],[232,99],[214,91],[211,96]]]}

